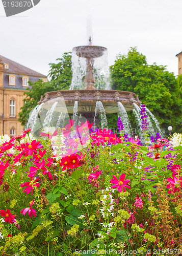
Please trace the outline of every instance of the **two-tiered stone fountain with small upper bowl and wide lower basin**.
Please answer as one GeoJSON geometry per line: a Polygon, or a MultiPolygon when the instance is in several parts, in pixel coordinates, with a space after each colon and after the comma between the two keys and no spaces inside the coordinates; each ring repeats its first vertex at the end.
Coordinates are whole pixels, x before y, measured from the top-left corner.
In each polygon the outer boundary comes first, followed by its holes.
{"type": "MultiPolygon", "coordinates": [[[[100,115],[102,129],[103,127],[107,127],[106,114],[118,113],[119,116],[124,118],[123,122],[128,133],[130,127],[126,111],[133,110],[134,103],[140,105],[141,102],[138,96],[136,97],[135,93],[132,92],[97,90],[95,88],[94,61],[106,51],[107,48],[105,47],[93,46],[91,38],[89,38],[88,46],[74,47],[72,52],[80,58],[86,59],[85,89],[47,92],[45,93],[45,97],[41,97],[39,101],[42,108],[46,109],[49,114],[53,111],[53,104],[57,102],[54,104],[54,112],[61,113],[62,103],[59,103],[59,99],[64,98],[69,115],[72,115],[74,119],[76,116],[82,115],[82,117],[85,117],[90,122],[94,122],[95,127],[99,125],[100,119],[98,119],[98,115],[100,115]]],[[[48,124],[50,125],[50,122],[48,124]]]]}

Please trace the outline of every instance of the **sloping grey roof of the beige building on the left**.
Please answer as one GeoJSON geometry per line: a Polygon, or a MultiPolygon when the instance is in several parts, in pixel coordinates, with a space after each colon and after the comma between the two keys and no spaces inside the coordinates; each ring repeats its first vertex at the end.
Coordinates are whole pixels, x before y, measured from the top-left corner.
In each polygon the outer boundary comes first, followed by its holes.
{"type": "Polygon", "coordinates": [[[3,57],[0,55],[0,62],[2,63],[8,63],[9,64],[9,69],[4,69],[5,73],[13,73],[13,74],[20,74],[20,75],[29,75],[29,76],[38,76],[38,77],[47,77],[45,75],[42,75],[32,69],[29,69],[27,67],[24,67],[23,65],[8,59],[6,57],[3,57]]]}

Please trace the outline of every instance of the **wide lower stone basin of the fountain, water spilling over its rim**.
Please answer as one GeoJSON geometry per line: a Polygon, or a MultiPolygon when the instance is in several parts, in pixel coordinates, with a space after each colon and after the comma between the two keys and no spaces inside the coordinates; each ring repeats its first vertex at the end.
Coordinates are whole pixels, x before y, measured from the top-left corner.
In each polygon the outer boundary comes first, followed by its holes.
{"type": "Polygon", "coordinates": [[[118,113],[118,101],[124,105],[126,111],[133,110],[133,103],[136,103],[137,105],[141,104],[138,96],[136,98],[135,96],[135,93],[132,92],[115,90],[64,90],[45,93],[44,99],[41,98],[39,104],[45,102],[43,104],[43,108],[46,110],[50,110],[54,100],[55,102],[58,101],[55,112],[60,112],[60,104],[62,104],[62,101],[60,101],[59,98],[64,98],[68,113],[73,114],[74,102],[77,100],[77,112],[79,114],[84,114],[94,113],[96,102],[101,101],[103,107],[105,108],[106,114],[108,114],[118,113]],[[49,101],[51,101],[51,104],[49,104],[49,101]]]}

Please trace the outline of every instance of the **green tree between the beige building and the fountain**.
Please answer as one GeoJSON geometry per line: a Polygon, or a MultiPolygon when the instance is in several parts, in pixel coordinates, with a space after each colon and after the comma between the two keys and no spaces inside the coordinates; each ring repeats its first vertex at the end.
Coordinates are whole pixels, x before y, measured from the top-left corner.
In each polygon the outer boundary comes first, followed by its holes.
{"type": "Polygon", "coordinates": [[[49,82],[42,82],[38,80],[35,83],[29,82],[29,87],[24,92],[26,98],[23,99],[24,104],[19,113],[18,121],[22,125],[27,123],[29,113],[34,109],[39,102],[41,95],[44,96],[46,92],[68,90],[72,71],[71,71],[71,52],[64,53],[62,58],[58,58],[59,63],[49,63],[49,82]]]}

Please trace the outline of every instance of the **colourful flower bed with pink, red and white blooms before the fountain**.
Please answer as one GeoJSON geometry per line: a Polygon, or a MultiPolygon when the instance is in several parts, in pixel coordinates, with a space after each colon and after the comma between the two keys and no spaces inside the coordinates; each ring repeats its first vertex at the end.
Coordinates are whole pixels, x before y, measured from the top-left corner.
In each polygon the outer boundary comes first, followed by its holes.
{"type": "Polygon", "coordinates": [[[88,122],[73,127],[1,138],[1,254],[179,255],[178,135],[175,147],[159,134],[149,147],[106,129],[89,134],[88,122]]]}

